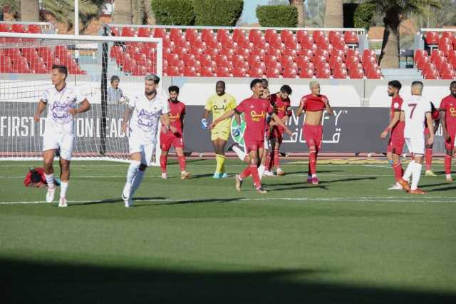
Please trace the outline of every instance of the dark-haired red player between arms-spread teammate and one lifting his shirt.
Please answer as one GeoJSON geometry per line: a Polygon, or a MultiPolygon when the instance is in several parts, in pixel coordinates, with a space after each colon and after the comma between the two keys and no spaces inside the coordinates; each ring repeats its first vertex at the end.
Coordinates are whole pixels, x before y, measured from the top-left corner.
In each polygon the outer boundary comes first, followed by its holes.
{"type": "MultiPolygon", "coordinates": [[[[289,96],[291,95],[292,90],[290,86],[284,84],[281,86],[280,91],[272,94],[271,99],[271,106],[274,108],[274,113],[279,116],[279,118],[286,123],[288,118],[291,116],[291,101],[289,96]]],[[[277,126],[274,121],[271,122],[272,130],[271,130],[271,151],[270,151],[270,159],[268,163],[268,168],[266,169],[267,172],[272,171],[272,167],[276,167],[277,176],[284,176],[285,172],[280,168],[280,156],[279,156],[279,149],[284,137],[284,129],[281,126],[277,126]]],[[[266,174],[267,174],[266,172],[266,174]]]]}

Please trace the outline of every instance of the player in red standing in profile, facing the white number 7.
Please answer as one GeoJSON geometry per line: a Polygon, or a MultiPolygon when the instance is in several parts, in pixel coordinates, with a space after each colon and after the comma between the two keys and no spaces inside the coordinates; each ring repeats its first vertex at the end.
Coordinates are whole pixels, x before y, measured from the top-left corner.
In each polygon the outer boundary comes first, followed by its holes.
{"type": "Polygon", "coordinates": [[[400,163],[400,154],[403,151],[405,145],[404,138],[404,121],[400,121],[400,106],[402,106],[403,98],[400,97],[399,91],[402,88],[402,84],[399,81],[393,80],[388,82],[388,96],[391,98],[390,107],[390,124],[380,134],[380,138],[386,138],[388,132],[391,131],[390,140],[388,141],[388,149],[386,151],[386,158],[393,166],[394,176],[396,183],[393,187],[388,190],[402,190],[403,186],[403,168],[400,163]]]}

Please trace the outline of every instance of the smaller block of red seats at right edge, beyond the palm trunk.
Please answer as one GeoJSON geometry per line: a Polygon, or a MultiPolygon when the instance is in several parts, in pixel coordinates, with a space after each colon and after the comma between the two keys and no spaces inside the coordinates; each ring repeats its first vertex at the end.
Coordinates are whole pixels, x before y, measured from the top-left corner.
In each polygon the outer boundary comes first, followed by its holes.
{"type": "Polygon", "coordinates": [[[456,35],[428,31],[424,36],[427,50],[415,51],[415,65],[425,79],[456,79],[456,35]]]}

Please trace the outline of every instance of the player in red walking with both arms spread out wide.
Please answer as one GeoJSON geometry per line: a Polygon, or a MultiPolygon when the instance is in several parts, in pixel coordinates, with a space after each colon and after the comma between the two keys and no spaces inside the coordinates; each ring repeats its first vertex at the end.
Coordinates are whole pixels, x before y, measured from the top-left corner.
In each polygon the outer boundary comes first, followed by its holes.
{"type": "Polygon", "coordinates": [[[242,103],[234,109],[227,113],[224,113],[222,116],[213,121],[210,125],[210,128],[223,121],[226,118],[233,116],[234,114],[240,115],[244,113],[244,119],[246,121],[246,130],[244,131],[244,141],[247,148],[247,152],[250,157],[250,164],[247,168],[239,175],[236,176],[236,189],[241,191],[242,181],[244,178],[252,175],[254,178],[255,188],[257,188],[258,193],[266,193],[261,187],[261,181],[258,174],[258,164],[261,161],[263,156],[263,147],[264,147],[264,131],[266,128],[266,114],[270,114],[272,119],[276,123],[284,128],[286,133],[291,135],[291,131],[287,128],[283,121],[274,113],[274,109],[271,106],[271,103],[264,98],[261,98],[263,93],[263,82],[259,78],[255,78],[250,83],[250,89],[253,92],[253,96],[247,99],[244,99],[242,103]]]}

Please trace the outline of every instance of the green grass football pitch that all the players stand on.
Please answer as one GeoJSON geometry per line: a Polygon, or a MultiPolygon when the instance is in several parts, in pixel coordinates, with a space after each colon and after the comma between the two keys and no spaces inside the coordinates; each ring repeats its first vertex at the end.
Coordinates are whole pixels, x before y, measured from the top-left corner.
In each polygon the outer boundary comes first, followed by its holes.
{"type": "MultiPolygon", "coordinates": [[[[0,162],[2,303],[456,303],[456,183],[422,176],[425,196],[388,191],[388,163],[305,161],[264,178],[227,160],[187,161],[180,181],[149,168],[135,207],[127,163],[73,161],[68,208],[22,184],[35,161],[0,162]]],[[[58,165],[56,163],[56,173],[58,165]]],[[[56,198],[58,191],[56,192],[56,198]]]]}

